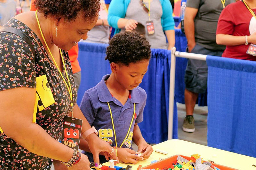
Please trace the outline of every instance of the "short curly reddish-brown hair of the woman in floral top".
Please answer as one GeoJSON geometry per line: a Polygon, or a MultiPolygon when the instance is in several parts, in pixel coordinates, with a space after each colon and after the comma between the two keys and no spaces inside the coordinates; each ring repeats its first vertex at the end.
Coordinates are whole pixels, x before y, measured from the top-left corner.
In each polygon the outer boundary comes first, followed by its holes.
{"type": "Polygon", "coordinates": [[[81,10],[85,21],[97,17],[100,11],[100,0],[36,0],[34,4],[45,17],[64,17],[68,21],[74,20],[81,10]]]}

